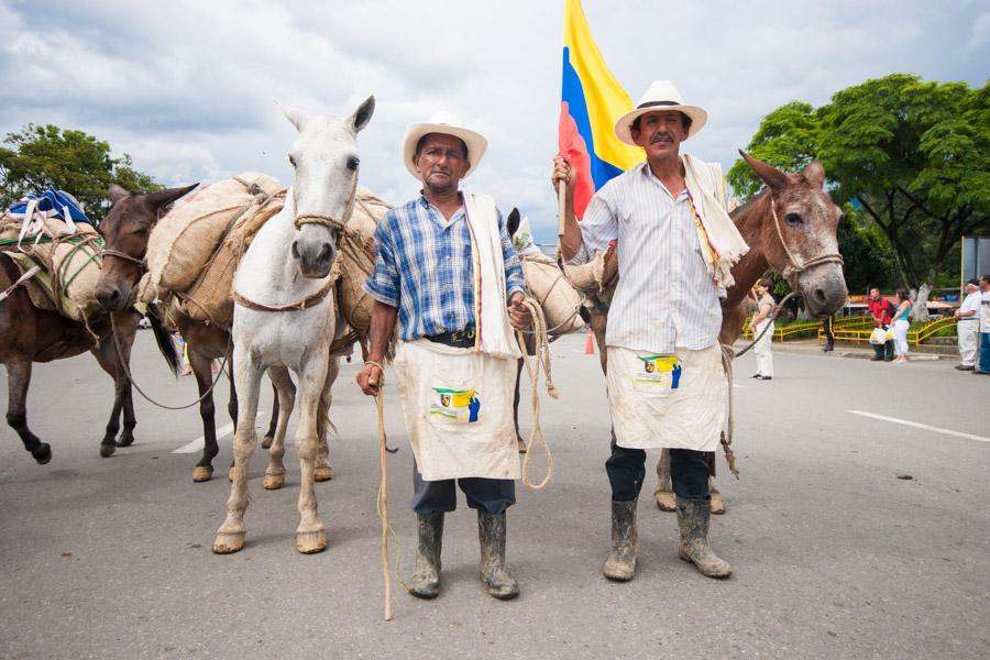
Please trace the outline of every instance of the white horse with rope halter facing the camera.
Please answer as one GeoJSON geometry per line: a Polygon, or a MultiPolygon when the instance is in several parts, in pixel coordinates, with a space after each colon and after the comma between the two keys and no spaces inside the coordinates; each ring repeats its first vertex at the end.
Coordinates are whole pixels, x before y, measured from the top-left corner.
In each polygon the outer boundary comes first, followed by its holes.
{"type": "MultiPolygon", "coordinates": [[[[288,154],[295,168],[285,208],[268,220],[248,249],[234,280],[233,367],[240,417],[234,433],[234,468],[227,519],[217,531],[218,554],[244,547],[248,466],[257,442],[254,429],[262,375],[278,389],[282,415],[288,417],[294,393],[288,371],[296,373],[301,411],[296,452],[302,469],[296,549],[320,552],[327,532],[317,516],[315,472],[330,466],[327,427],[330,387],[339,371],[330,344],[340,315],[333,304],[330,270],[338,234],[351,215],[358,186],[358,132],[375,109],[369,97],[345,119],[307,117],[283,108],[299,135],[288,154]]],[[[282,421],[282,420],[279,420],[282,421]]],[[[284,448],[273,443],[265,487],[284,481],[284,448]]]]}

